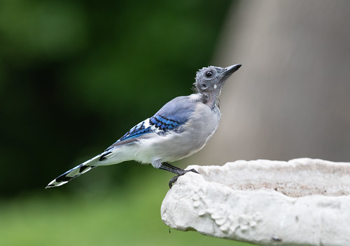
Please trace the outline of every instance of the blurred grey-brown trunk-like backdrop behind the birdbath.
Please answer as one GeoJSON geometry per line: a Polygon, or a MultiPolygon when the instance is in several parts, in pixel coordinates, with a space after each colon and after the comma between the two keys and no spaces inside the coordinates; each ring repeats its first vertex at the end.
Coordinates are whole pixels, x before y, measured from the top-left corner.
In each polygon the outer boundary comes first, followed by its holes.
{"type": "Polygon", "coordinates": [[[243,66],[221,95],[218,132],[191,160],[350,161],[349,23],[349,1],[241,1],[213,63],[243,66]]]}

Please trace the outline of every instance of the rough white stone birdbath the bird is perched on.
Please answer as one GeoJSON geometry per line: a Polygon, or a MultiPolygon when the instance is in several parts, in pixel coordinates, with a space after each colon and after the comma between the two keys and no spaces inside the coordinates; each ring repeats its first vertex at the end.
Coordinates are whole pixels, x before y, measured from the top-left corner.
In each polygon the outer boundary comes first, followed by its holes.
{"type": "Polygon", "coordinates": [[[350,163],[299,158],[197,166],[163,200],[181,231],[259,245],[350,245],[350,163]]]}

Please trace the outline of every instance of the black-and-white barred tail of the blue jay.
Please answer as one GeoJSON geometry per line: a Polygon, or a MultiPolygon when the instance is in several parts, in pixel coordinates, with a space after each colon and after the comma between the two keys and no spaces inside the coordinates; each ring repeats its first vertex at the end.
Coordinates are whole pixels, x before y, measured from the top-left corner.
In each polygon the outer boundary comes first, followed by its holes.
{"type": "Polygon", "coordinates": [[[94,158],[91,158],[90,160],[85,161],[85,163],[81,163],[80,165],[77,165],[75,168],[72,168],[71,170],[64,172],[63,175],[60,175],[56,179],[53,179],[52,182],[50,182],[46,188],[52,188],[57,186],[62,186],[63,184],[66,184],[71,181],[71,179],[74,179],[80,175],[83,175],[83,173],[92,170],[92,168],[97,167],[97,163],[99,162],[99,156],[95,156],[94,158]]]}

